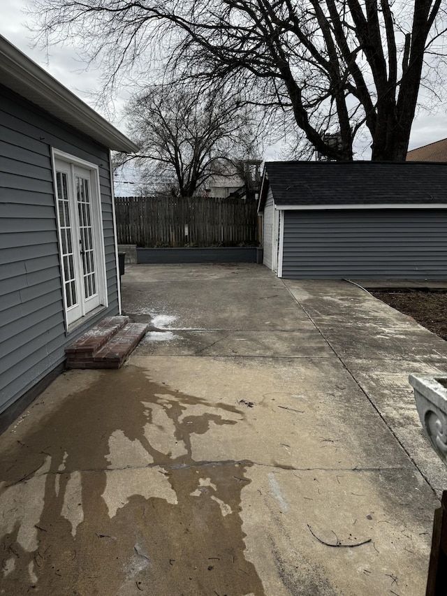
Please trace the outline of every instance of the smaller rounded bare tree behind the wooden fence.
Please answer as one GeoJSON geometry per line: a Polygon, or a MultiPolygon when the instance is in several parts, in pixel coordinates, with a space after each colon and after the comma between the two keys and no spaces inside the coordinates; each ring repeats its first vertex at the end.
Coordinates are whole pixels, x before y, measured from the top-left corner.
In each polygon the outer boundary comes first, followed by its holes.
{"type": "Polygon", "coordinates": [[[126,116],[140,152],[119,154],[117,165],[134,161],[143,180],[145,172],[172,180],[170,194],[177,188],[180,196],[193,196],[210,177],[234,174],[237,161],[256,152],[253,112],[233,97],[152,85],[131,99],[126,116]]]}

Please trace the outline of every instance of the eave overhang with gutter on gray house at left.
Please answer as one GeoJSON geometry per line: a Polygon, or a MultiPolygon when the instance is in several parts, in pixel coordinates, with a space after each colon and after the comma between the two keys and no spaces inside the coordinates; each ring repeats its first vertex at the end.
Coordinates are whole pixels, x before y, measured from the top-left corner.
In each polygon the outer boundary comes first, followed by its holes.
{"type": "Polygon", "coordinates": [[[138,151],[137,145],[115,129],[115,126],[1,35],[0,82],[97,143],[126,153],[138,151]]]}

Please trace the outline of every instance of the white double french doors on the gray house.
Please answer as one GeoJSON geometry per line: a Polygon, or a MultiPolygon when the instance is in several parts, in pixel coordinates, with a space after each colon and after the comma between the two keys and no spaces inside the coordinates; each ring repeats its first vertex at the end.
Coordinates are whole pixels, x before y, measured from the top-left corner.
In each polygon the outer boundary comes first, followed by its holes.
{"type": "Polygon", "coordinates": [[[101,208],[95,169],[58,157],[54,166],[66,323],[70,325],[104,304],[101,208]]]}

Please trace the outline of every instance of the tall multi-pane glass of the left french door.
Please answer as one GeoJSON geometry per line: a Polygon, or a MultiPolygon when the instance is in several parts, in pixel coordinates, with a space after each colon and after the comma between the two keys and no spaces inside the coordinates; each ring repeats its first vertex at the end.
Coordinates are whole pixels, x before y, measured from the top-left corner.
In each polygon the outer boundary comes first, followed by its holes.
{"type": "Polygon", "coordinates": [[[67,308],[78,304],[75,286],[75,268],[73,266],[73,247],[71,245],[71,219],[68,208],[68,181],[65,172],[56,173],[57,208],[61,230],[61,251],[64,272],[64,292],[67,308]]]}

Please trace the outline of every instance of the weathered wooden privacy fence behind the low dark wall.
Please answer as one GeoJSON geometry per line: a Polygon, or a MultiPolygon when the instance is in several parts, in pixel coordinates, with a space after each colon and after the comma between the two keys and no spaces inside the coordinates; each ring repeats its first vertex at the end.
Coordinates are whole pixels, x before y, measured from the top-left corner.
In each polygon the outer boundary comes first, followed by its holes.
{"type": "Polygon", "coordinates": [[[118,244],[138,247],[256,245],[256,201],[240,198],[115,198],[118,244]]]}

